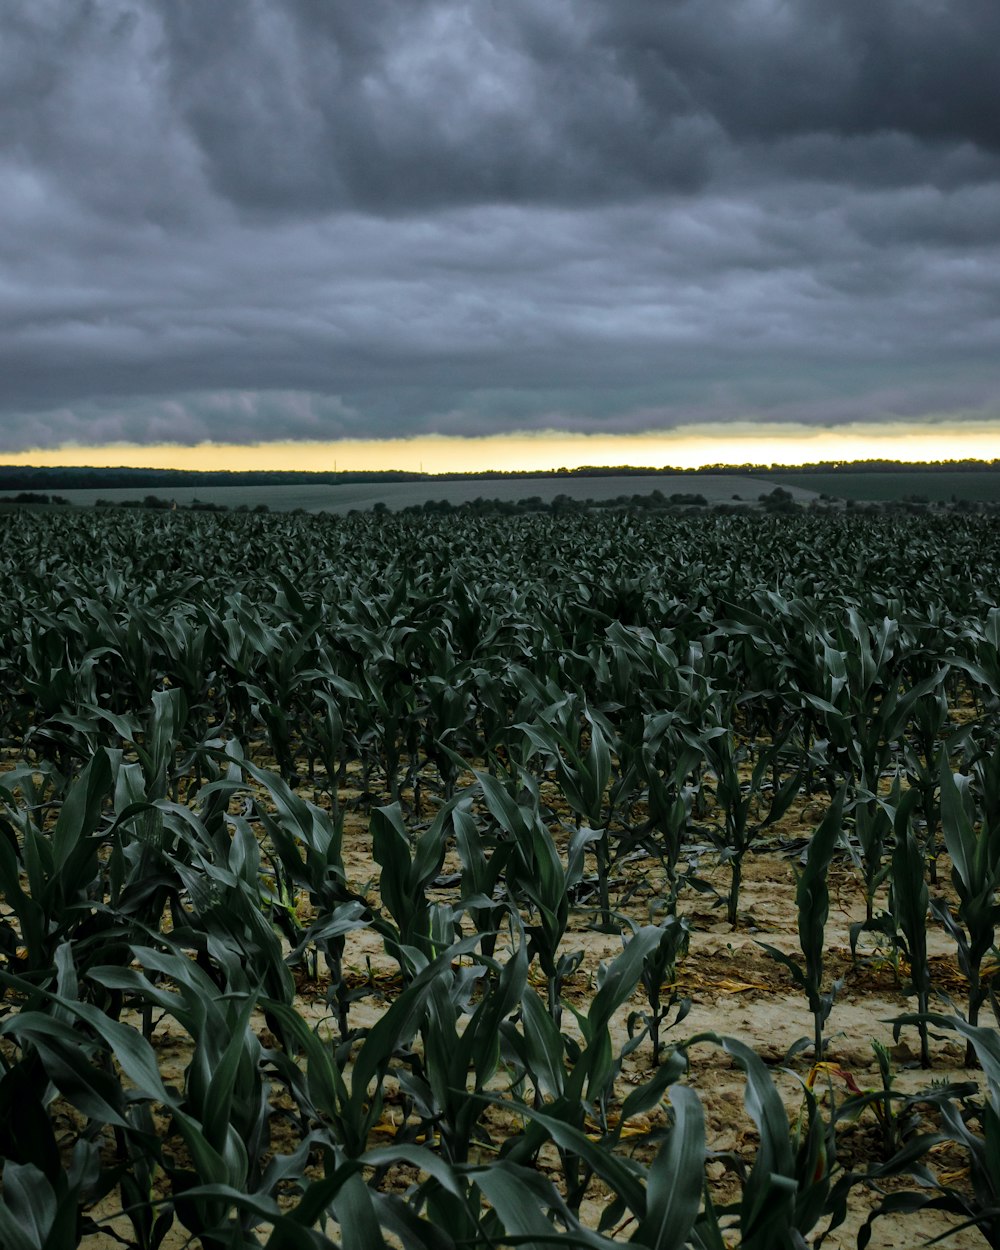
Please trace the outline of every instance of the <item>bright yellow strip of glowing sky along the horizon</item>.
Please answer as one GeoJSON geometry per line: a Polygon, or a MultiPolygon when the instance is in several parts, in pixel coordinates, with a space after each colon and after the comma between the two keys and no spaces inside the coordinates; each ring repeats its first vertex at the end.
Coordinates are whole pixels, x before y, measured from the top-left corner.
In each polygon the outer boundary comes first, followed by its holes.
{"type": "Polygon", "coordinates": [[[0,456],[4,465],[232,471],[360,470],[478,472],[634,465],[698,469],[711,464],[805,464],[818,460],[1000,459],[1000,419],[809,428],[731,422],[715,429],[682,426],[660,434],[496,434],[484,438],[421,435],[412,439],[331,442],[260,442],[196,446],[160,444],[70,445],[0,456]]]}

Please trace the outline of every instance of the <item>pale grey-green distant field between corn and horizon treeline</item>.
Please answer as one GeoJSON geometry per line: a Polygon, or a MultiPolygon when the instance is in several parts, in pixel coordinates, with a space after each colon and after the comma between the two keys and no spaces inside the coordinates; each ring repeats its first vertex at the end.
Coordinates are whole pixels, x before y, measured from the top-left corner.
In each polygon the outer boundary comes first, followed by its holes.
{"type": "MultiPolygon", "coordinates": [[[[740,499],[755,501],[759,495],[774,490],[776,482],[762,478],[738,478],[726,474],[704,478],[622,476],[622,478],[502,478],[491,481],[404,481],[359,482],[340,486],[175,486],[160,491],[136,490],[61,490],[72,504],[92,506],[98,499],[115,502],[124,499],[142,499],[156,494],[172,499],[181,506],[199,499],[206,504],[225,504],[254,508],[266,504],[274,511],[286,512],[302,508],[308,512],[349,512],[352,508],[366,511],[375,504],[385,504],[396,510],[428,500],[446,499],[451,504],[466,504],[474,499],[505,499],[515,501],[538,495],[546,501],[556,495],[570,499],[615,499],[619,495],[649,495],[661,490],[664,495],[700,494],[710,504],[740,499]]],[[[784,485],[784,482],[782,482],[784,485]]],[[[789,484],[796,499],[808,501],[816,498],[822,486],[789,484]]]]}

